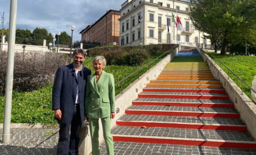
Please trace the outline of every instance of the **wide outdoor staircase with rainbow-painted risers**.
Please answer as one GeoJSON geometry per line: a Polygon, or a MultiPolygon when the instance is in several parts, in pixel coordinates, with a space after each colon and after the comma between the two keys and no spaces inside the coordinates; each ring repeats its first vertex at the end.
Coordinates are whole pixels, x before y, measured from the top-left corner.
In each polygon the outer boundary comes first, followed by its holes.
{"type": "Polygon", "coordinates": [[[256,154],[234,104],[195,51],[179,52],[125,113],[111,131],[116,154],[256,154]]]}

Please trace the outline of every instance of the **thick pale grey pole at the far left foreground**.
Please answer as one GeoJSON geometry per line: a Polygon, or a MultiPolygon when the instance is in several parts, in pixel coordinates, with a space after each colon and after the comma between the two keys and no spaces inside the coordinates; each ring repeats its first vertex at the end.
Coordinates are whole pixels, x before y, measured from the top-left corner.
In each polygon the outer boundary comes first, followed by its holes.
{"type": "Polygon", "coordinates": [[[11,0],[9,41],[8,41],[9,43],[8,44],[8,61],[7,61],[7,73],[6,73],[6,94],[5,94],[5,112],[4,112],[5,115],[4,115],[4,130],[3,130],[2,143],[10,142],[16,17],[17,17],[17,0],[11,0]]]}

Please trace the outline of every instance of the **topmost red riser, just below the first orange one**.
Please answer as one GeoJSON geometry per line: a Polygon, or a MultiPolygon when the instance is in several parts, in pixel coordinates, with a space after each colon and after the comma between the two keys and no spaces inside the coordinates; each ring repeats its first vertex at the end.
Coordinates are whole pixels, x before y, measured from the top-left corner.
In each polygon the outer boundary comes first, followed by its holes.
{"type": "Polygon", "coordinates": [[[181,92],[181,93],[226,93],[225,90],[207,90],[207,89],[149,89],[144,88],[143,92],[181,92]]]}

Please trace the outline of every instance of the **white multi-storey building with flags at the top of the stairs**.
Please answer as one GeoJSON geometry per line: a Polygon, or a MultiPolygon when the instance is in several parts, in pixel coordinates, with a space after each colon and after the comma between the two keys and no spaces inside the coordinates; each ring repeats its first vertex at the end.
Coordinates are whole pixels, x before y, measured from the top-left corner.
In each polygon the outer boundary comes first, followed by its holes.
{"type": "Polygon", "coordinates": [[[210,44],[189,18],[189,2],[177,0],[127,0],[120,10],[120,45],[178,43],[210,44]],[[172,13],[180,18],[185,31],[177,31],[172,13]],[[167,18],[170,21],[169,33],[167,18]],[[174,32],[173,32],[174,27],[174,32]]]}

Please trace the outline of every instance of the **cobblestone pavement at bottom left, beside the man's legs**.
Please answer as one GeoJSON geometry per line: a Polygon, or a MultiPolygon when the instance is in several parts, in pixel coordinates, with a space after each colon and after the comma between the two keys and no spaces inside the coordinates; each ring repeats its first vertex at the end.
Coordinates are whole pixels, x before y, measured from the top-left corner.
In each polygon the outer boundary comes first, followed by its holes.
{"type": "MultiPolygon", "coordinates": [[[[0,142],[2,135],[0,129],[0,142]]],[[[56,154],[58,137],[58,129],[11,129],[11,141],[0,143],[0,154],[56,154]]]]}

